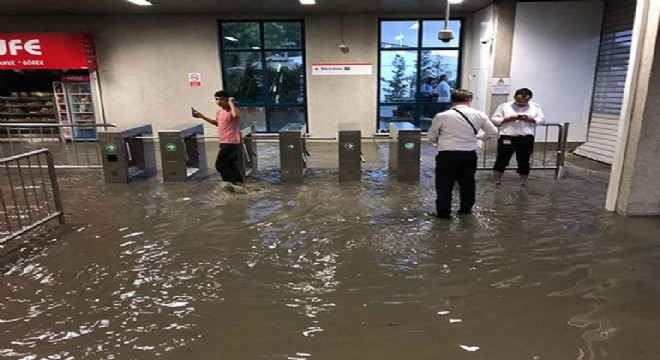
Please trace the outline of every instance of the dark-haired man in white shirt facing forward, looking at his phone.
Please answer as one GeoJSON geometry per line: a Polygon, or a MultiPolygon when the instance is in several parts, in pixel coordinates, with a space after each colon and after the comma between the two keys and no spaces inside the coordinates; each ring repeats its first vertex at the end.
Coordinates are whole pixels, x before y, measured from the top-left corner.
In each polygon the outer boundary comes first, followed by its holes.
{"type": "Polygon", "coordinates": [[[518,162],[517,172],[520,185],[527,185],[529,159],[534,152],[534,133],[536,125],[545,122],[541,106],[531,102],[532,91],[528,88],[516,90],[513,102],[498,106],[493,114],[493,122],[500,125],[500,138],[497,142],[497,160],[493,167],[495,184],[502,181],[502,174],[513,153],[518,162]]]}

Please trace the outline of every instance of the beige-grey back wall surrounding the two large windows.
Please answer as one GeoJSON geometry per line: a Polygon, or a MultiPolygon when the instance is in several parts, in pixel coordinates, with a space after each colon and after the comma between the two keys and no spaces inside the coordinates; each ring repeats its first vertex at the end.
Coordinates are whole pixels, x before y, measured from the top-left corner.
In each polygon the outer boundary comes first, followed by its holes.
{"type": "MultiPolygon", "coordinates": [[[[365,136],[375,132],[378,18],[376,14],[344,17],[344,40],[350,47],[348,54],[338,49],[339,15],[304,18],[308,119],[312,136],[334,137],[340,122],[358,123],[365,136]],[[372,63],[373,74],[313,76],[310,66],[318,62],[372,63]]],[[[208,116],[213,115],[212,95],[222,84],[217,19],[214,15],[0,17],[0,32],[84,31],[93,34],[105,121],[120,126],[152,123],[158,130],[195,121],[190,118],[191,106],[208,116]],[[201,88],[188,86],[187,75],[191,72],[202,74],[201,88]]],[[[470,68],[470,21],[468,16],[463,33],[464,86],[468,84],[466,69],[470,68]]],[[[207,133],[213,134],[213,130],[209,127],[207,133]]]]}

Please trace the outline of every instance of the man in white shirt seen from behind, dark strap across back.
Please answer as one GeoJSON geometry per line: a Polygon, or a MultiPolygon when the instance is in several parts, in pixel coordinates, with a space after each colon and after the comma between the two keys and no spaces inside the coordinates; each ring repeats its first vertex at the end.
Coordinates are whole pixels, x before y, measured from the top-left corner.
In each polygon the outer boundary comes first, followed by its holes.
{"type": "Polygon", "coordinates": [[[477,140],[497,136],[497,128],[484,112],[470,107],[472,92],[459,89],[451,94],[453,107],[437,114],[429,129],[429,140],[437,144],[435,157],[436,216],[451,218],[451,198],[454,183],[460,189],[458,213],[472,212],[476,197],[474,174],[477,171],[477,140]],[[478,130],[484,131],[477,135],[478,130]]]}

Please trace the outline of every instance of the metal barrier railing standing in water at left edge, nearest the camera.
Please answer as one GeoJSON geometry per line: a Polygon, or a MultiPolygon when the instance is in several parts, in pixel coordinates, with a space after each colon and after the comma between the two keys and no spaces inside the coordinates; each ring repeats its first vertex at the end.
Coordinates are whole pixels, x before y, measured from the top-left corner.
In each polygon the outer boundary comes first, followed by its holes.
{"type": "Polygon", "coordinates": [[[9,199],[10,202],[8,206],[8,201],[5,200],[5,195],[0,188],[0,206],[4,214],[3,218],[6,224],[6,229],[0,229],[0,231],[2,231],[2,234],[7,234],[0,238],[0,244],[19,237],[28,231],[34,230],[53,219],[58,219],[60,224],[64,224],[64,210],[62,208],[62,198],[60,196],[60,188],[57,183],[57,175],[55,174],[55,161],[53,160],[53,156],[48,149],[34,150],[24,154],[0,159],[0,168],[2,167],[4,167],[5,173],[7,175],[7,182],[9,183],[9,192],[11,193],[11,198],[9,199]],[[41,166],[41,155],[46,157],[46,167],[48,168],[48,177],[50,180],[51,188],[50,195],[48,194],[48,190],[46,188],[43,167],[41,166]],[[38,169],[38,175],[40,176],[39,180],[41,181],[35,182],[33,172],[35,168],[31,166],[30,159],[36,159],[38,164],[36,169],[38,169]],[[21,160],[26,160],[28,166],[22,166],[21,160]],[[14,165],[10,166],[10,164],[14,165]],[[15,169],[18,173],[20,187],[14,187],[14,181],[12,179],[12,174],[10,173],[10,168],[15,169]],[[28,169],[27,175],[29,176],[30,182],[27,184],[26,176],[24,176],[23,173],[24,168],[28,169]],[[37,191],[38,185],[41,186],[41,192],[43,194],[41,198],[37,191]],[[30,194],[30,190],[32,194],[30,194]],[[17,193],[19,193],[19,195],[17,195],[17,193]],[[22,198],[20,197],[20,194],[23,195],[22,198]],[[32,197],[34,197],[34,202],[31,199],[32,197]],[[54,210],[51,210],[51,200],[54,204],[54,210]],[[24,201],[24,203],[21,203],[21,201],[24,201]],[[40,204],[45,205],[45,214],[43,214],[43,216],[39,219],[33,219],[33,206],[34,211],[36,212],[34,214],[35,217],[43,212],[43,206],[40,207],[40,204]],[[14,210],[15,215],[10,216],[9,208],[14,210]],[[27,218],[29,219],[30,223],[23,223],[22,218],[24,215],[21,214],[21,209],[24,209],[24,212],[27,213],[27,218]],[[12,218],[16,220],[12,221],[12,218]],[[16,229],[14,229],[13,225],[17,225],[16,229]]]}

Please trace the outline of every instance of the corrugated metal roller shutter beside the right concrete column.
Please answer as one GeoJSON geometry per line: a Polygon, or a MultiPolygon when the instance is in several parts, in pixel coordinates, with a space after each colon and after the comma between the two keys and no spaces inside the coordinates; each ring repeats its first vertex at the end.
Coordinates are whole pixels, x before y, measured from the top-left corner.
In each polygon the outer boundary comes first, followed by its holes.
{"type": "Polygon", "coordinates": [[[587,142],[575,154],[612,164],[630,59],[634,0],[605,2],[587,142]]]}

